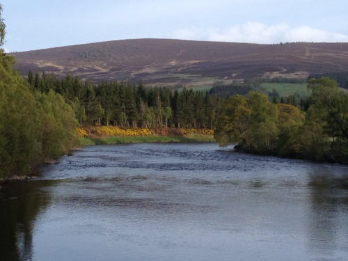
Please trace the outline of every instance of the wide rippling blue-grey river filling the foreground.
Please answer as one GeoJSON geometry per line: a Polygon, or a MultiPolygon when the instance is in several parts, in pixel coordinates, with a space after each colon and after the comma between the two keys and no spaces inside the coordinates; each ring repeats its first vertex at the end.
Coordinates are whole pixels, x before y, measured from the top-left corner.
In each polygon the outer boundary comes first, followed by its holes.
{"type": "Polygon", "coordinates": [[[348,260],[348,167],[95,145],[0,189],[0,260],[348,260]]]}

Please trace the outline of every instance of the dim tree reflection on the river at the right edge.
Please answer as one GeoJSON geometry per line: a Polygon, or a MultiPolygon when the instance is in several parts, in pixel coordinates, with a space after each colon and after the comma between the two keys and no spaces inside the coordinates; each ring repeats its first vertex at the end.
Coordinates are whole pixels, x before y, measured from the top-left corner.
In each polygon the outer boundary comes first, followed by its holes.
{"type": "Polygon", "coordinates": [[[322,260],[342,258],[336,251],[345,248],[342,244],[347,242],[348,235],[348,175],[337,175],[332,168],[317,168],[308,175],[308,246],[322,260]]]}

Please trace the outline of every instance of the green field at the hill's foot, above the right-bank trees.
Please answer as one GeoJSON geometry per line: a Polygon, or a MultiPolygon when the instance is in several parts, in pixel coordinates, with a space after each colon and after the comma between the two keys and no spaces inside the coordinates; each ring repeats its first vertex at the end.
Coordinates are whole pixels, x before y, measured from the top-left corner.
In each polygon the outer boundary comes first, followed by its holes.
{"type": "Polygon", "coordinates": [[[289,96],[298,93],[300,96],[308,96],[307,84],[261,84],[266,93],[271,93],[275,89],[280,96],[289,96]]]}

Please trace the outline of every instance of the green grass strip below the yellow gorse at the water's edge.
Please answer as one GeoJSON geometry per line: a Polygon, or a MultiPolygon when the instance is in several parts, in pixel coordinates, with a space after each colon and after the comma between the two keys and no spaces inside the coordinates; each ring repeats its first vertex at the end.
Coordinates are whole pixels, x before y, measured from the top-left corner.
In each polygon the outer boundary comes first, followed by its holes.
{"type": "Polygon", "coordinates": [[[212,136],[136,136],[136,137],[104,137],[104,138],[87,138],[80,137],[82,146],[98,144],[120,144],[120,143],[155,143],[155,142],[211,142],[214,141],[212,136]]]}

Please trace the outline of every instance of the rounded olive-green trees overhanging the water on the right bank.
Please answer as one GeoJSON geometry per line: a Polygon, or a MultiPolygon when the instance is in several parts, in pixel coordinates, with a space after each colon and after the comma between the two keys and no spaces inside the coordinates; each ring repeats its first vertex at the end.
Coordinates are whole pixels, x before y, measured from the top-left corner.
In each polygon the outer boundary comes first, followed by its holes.
{"type": "Polygon", "coordinates": [[[308,111],[274,104],[251,91],[228,97],[217,121],[215,138],[237,150],[348,163],[348,94],[333,79],[310,79],[308,111]]]}

